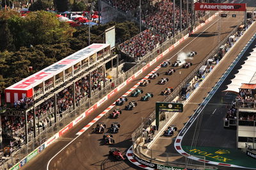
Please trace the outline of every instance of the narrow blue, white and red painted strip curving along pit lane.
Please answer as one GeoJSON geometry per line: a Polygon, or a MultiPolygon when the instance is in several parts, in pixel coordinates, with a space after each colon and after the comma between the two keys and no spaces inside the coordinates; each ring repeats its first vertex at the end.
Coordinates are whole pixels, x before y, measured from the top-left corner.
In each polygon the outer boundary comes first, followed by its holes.
{"type": "MultiPolygon", "coordinates": [[[[185,157],[191,158],[193,160],[202,161],[202,160],[200,160],[200,158],[197,158],[197,157],[195,157],[193,155],[190,155],[189,153],[186,153],[186,151],[184,151],[182,149],[182,146],[181,146],[182,139],[183,139],[184,135],[186,134],[186,132],[188,132],[188,129],[191,127],[193,122],[200,115],[200,113],[204,109],[205,105],[207,105],[207,103],[211,100],[211,98],[214,95],[214,93],[218,90],[218,88],[220,88],[221,84],[225,81],[225,79],[227,78],[228,74],[233,70],[234,66],[237,65],[237,62],[239,61],[239,59],[242,58],[242,56],[244,55],[244,52],[246,52],[246,50],[252,44],[252,42],[255,40],[255,38],[256,38],[256,34],[253,35],[253,37],[246,44],[246,46],[243,48],[243,50],[241,50],[241,52],[239,53],[237,58],[228,67],[227,71],[221,76],[220,80],[217,82],[217,84],[214,86],[214,88],[212,88],[212,90],[210,91],[209,95],[207,95],[207,97],[205,98],[204,102],[202,102],[202,104],[200,104],[200,106],[198,107],[198,109],[196,109],[196,111],[193,114],[193,116],[191,116],[189,121],[186,123],[186,125],[184,125],[184,127],[180,131],[179,135],[177,136],[177,138],[175,140],[175,144],[174,144],[175,149],[180,154],[184,155],[185,157]]],[[[220,166],[228,166],[228,167],[240,167],[240,166],[236,166],[236,165],[232,165],[232,164],[222,164],[220,162],[213,162],[213,161],[209,161],[209,160],[207,160],[207,163],[208,164],[220,165],[220,166]]],[[[241,167],[241,168],[244,168],[244,167],[241,167]]]]}

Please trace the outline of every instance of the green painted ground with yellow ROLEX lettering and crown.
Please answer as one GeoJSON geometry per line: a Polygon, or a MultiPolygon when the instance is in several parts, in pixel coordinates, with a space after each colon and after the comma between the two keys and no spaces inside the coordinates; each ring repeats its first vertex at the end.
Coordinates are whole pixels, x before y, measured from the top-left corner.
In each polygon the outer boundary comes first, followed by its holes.
{"type": "Polygon", "coordinates": [[[246,157],[246,153],[242,153],[235,148],[216,148],[216,147],[195,147],[182,146],[183,150],[193,156],[204,156],[205,160],[220,162],[223,164],[233,164],[236,166],[255,168],[256,161],[251,157],[246,157]]]}

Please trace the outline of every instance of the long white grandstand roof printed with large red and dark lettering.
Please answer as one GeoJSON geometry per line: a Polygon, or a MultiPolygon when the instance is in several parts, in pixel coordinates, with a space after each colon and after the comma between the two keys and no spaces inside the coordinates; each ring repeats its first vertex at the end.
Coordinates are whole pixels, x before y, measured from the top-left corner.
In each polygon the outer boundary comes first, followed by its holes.
{"type": "Polygon", "coordinates": [[[95,54],[95,52],[98,52],[108,46],[109,44],[105,43],[93,43],[92,45],[89,45],[88,47],[85,47],[84,49],[81,49],[74,54],[71,54],[67,58],[61,59],[57,63],[54,63],[47,68],[44,68],[40,72],[34,73],[26,79],[23,79],[22,81],[17,82],[6,89],[29,90],[31,88],[34,88],[35,86],[38,86],[38,84],[47,81],[54,75],[58,75],[58,73],[65,71],[67,68],[70,68],[70,66],[76,65],[76,63],[79,63],[83,59],[88,58],[92,54],[95,54]]]}

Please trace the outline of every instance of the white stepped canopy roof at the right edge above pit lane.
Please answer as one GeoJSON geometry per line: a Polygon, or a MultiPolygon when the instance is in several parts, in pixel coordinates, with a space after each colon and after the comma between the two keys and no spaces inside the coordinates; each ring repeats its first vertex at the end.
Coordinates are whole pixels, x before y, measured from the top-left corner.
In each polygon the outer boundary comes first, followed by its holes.
{"type": "Polygon", "coordinates": [[[234,79],[228,84],[224,91],[239,93],[239,88],[254,88],[256,87],[256,48],[250,52],[250,56],[244,61],[242,68],[238,70],[234,79]]]}

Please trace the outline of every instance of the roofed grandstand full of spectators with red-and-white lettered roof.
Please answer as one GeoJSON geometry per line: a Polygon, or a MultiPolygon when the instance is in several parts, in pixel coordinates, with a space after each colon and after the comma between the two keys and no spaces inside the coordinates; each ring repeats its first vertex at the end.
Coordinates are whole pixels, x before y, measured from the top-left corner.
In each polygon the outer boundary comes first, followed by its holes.
{"type": "Polygon", "coordinates": [[[111,81],[106,63],[118,57],[109,44],[93,43],[4,90],[4,138],[28,143],[111,81]]]}

